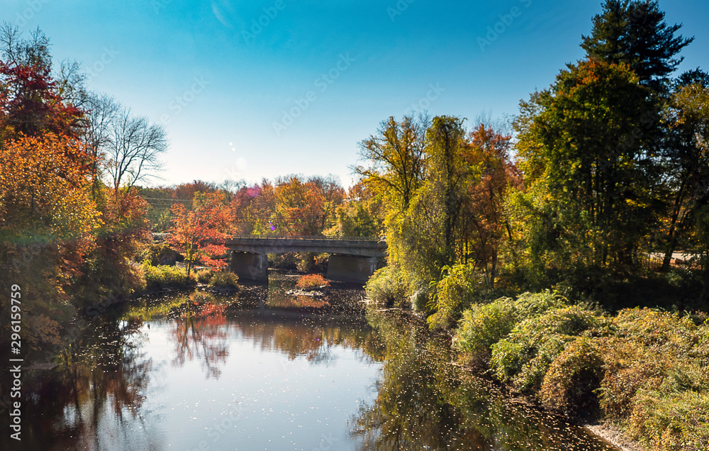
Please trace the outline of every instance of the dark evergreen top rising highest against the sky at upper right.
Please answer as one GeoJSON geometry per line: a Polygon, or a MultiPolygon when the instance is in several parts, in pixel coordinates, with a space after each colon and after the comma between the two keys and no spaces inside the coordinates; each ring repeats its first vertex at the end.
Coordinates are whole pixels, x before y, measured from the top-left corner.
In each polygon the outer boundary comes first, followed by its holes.
{"type": "Polygon", "coordinates": [[[605,0],[581,48],[588,58],[627,64],[640,84],[657,90],[682,62],[676,55],[694,40],[675,36],[682,26],[668,26],[664,16],[657,1],[605,0]]]}

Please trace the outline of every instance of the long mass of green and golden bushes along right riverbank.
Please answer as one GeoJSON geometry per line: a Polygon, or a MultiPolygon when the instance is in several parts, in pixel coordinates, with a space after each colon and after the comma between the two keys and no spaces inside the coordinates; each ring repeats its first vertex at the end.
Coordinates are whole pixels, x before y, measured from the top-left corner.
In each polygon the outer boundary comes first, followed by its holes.
{"type": "Polygon", "coordinates": [[[463,363],[549,411],[618,425],[650,450],[709,449],[709,321],[651,308],[615,316],[549,291],[474,304],[463,363]]]}

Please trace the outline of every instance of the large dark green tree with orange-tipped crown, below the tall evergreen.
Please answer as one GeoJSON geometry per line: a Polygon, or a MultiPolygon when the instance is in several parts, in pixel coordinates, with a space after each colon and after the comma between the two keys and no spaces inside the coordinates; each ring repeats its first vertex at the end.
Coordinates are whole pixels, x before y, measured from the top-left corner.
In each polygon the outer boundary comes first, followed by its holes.
{"type": "Polygon", "coordinates": [[[657,208],[652,106],[626,65],[598,60],[569,66],[521,104],[526,192],[515,206],[533,260],[557,271],[637,265],[657,208]]]}

